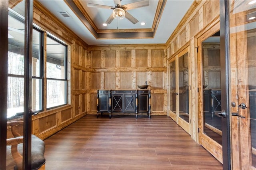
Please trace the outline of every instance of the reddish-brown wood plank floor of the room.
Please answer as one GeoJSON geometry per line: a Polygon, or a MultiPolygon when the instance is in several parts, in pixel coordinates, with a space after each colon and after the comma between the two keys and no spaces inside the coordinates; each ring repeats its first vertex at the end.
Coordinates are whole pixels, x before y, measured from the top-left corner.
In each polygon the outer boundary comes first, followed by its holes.
{"type": "Polygon", "coordinates": [[[222,169],[167,116],[87,115],[46,144],[46,170],[222,169]]]}

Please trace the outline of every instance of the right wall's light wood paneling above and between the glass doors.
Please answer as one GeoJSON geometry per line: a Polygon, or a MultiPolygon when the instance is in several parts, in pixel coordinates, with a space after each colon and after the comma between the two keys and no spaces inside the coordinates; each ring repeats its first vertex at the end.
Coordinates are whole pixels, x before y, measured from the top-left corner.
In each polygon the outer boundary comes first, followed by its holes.
{"type": "MultiPolygon", "coordinates": [[[[198,77],[197,77],[197,42],[196,38],[198,35],[206,32],[204,28],[213,26],[219,20],[219,1],[207,0],[207,1],[194,1],[180,24],[174,30],[168,41],[166,42],[168,51],[168,61],[173,60],[182,49],[189,45],[190,46],[190,73],[191,73],[191,111],[192,122],[191,122],[191,136],[198,141],[198,77]]],[[[200,50],[200,49],[199,49],[200,50]]],[[[169,66],[168,66],[169,67],[169,66]]],[[[168,74],[169,75],[169,74],[168,74]]],[[[168,100],[171,96],[168,95],[168,100]]],[[[168,102],[169,103],[169,102],[168,102]]],[[[168,107],[170,108],[170,107],[168,107]]],[[[169,113],[169,112],[168,112],[169,113]]]]}

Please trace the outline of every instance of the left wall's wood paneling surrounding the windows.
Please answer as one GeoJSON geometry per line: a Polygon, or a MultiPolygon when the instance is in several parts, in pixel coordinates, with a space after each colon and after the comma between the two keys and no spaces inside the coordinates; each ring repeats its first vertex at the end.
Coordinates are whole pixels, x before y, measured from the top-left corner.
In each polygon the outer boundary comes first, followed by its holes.
{"type": "MultiPolygon", "coordinates": [[[[86,84],[88,51],[86,44],[38,1],[34,1],[33,12],[33,22],[40,30],[50,32],[68,45],[68,105],[51,110],[44,106],[42,112],[32,117],[32,134],[45,139],[86,115],[86,102],[90,96],[86,84]]],[[[7,134],[12,137],[10,127],[7,134]]]]}

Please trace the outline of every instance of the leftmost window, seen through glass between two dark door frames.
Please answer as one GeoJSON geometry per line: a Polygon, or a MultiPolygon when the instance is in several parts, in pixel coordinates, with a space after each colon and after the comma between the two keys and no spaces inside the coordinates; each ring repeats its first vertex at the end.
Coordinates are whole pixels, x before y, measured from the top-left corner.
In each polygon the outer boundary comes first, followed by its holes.
{"type": "Polygon", "coordinates": [[[24,20],[8,16],[7,117],[24,111],[24,20]]]}

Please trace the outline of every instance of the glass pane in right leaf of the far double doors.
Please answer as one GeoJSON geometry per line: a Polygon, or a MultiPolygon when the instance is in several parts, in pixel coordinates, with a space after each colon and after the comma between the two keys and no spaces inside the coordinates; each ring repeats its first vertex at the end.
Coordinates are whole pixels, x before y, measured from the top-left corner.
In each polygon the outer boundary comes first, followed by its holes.
{"type": "Polygon", "coordinates": [[[188,53],[179,57],[179,117],[189,123],[188,53]]]}

